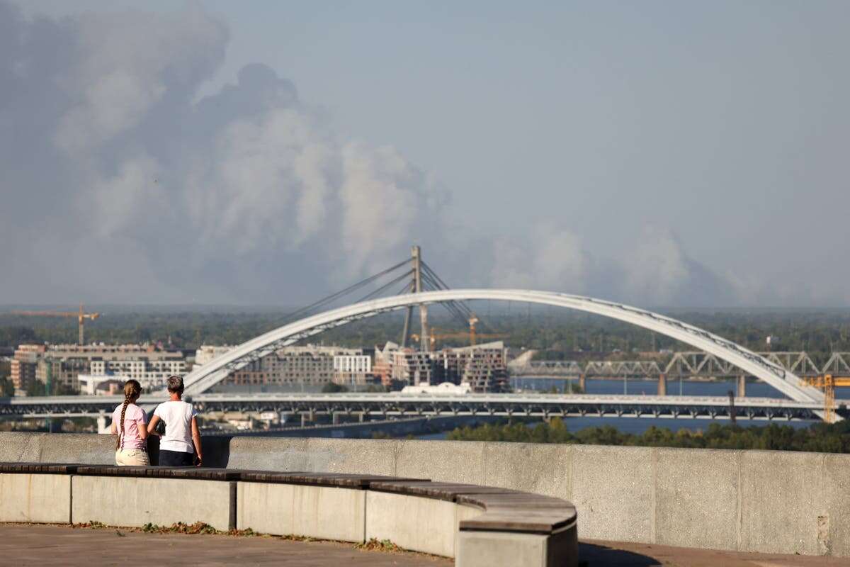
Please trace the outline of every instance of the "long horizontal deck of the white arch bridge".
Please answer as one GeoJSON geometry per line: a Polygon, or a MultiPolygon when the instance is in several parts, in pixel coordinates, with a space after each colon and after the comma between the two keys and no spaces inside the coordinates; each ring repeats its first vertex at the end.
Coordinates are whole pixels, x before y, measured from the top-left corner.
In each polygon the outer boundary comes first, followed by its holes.
{"type": "MultiPolygon", "coordinates": [[[[121,396],[54,396],[0,400],[0,417],[107,417],[121,396]]],[[[143,396],[141,405],[165,401],[143,396]]],[[[199,411],[265,412],[291,415],[362,415],[370,417],[506,416],[506,417],[653,417],[812,420],[819,418],[818,402],[725,396],[644,396],[576,394],[198,394],[199,411]]]]}

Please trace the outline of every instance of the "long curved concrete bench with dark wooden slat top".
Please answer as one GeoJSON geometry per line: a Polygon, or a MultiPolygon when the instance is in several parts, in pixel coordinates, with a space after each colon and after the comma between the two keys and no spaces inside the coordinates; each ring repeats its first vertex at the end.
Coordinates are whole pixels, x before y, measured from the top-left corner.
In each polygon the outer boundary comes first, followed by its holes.
{"type": "Polygon", "coordinates": [[[467,567],[513,566],[516,558],[531,567],[575,567],[575,518],[569,502],[547,496],[423,479],[0,462],[0,521],[203,522],[336,541],[375,538],[467,567]],[[483,553],[488,540],[491,551],[483,553]],[[510,547],[504,557],[492,552],[500,546],[510,547]]]}

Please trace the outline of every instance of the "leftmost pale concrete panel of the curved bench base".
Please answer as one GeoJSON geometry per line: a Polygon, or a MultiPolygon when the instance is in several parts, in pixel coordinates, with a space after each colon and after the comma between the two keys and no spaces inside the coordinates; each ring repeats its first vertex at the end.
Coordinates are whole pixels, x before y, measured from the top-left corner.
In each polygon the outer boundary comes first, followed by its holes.
{"type": "Polygon", "coordinates": [[[0,522],[71,521],[71,476],[0,473],[0,522]]]}

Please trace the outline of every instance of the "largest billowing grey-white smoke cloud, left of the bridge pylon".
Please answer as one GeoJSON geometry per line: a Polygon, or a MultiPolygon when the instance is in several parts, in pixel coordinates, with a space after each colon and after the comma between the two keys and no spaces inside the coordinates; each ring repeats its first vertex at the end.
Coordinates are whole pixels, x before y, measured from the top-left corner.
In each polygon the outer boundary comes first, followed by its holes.
{"type": "MultiPolygon", "coordinates": [[[[38,211],[49,226],[40,232],[32,214],[8,215],[20,225],[11,231],[24,247],[16,257],[49,235],[62,246],[38,248],[45,264],[68,247],[109,258],[67,267],[90,298],[287,301],[275,295],[294,287],[297,303],[316,293],[299,294],[300,281],[348,281],[397,261],[416,235],[439,234],[427,228],[441,217],[428,176],[392,147],[338,139],[268,67],[246,65],[235,85],[195,101],[228,41],[226,26],[199,7],[28,21],[0,2],[0,14],[13,38],[0,71],[17,70],[0,74],[3,145],[16,145],[20,129],[39,134],[20,152],[31,163],[0,163],[15,173],[0,187],[12,208],[38,211]],[[26,96],[36,92],[52,93],[47,116],[43,101],[26,96]],[[42,194],[27,195],[30,186],[42,194]],[[88,277],[143,265],[144,278],[128,277],[120,293],[111,278],[88,277]]],[[[10,285],[22,299],[54,299],[26,293],[40,270],[16,271],[10,285]]],[[[57,282],[54,293],[67,289],[57,282]]]]}

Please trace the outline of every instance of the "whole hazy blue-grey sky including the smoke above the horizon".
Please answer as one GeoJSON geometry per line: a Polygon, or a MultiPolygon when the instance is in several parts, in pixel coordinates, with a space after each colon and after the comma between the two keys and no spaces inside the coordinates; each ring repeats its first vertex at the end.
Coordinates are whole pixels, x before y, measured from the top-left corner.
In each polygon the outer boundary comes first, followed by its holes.
{"type": "Polygon", "coordinates": [[[846,2],[0,0],[0,303],[850,304],[846,2]]]}

